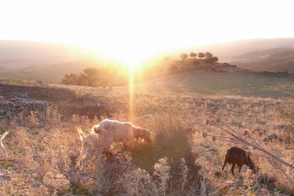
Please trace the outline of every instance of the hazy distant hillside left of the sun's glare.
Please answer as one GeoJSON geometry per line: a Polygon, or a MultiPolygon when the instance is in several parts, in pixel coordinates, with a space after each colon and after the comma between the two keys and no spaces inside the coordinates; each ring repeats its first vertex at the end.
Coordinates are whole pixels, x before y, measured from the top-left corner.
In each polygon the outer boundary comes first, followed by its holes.
{"type": "Polygon", "coordinates": [[[56,43],[0,40],[0,77],[59,83],[66,73],[99,67],[107,59],[56,43]]]}

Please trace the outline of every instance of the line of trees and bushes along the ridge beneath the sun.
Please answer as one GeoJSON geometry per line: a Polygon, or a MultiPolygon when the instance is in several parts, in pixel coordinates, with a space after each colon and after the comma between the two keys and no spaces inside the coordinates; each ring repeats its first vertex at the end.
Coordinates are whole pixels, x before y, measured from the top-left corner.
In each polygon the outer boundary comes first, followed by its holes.
{"type": "MultiPolygon", "coordinates": [[[[182,73],[191,70],[197,70],[201,67],[207,67],[218,61],[218,57],[214,57],[210,52],[198,53],[199,59],[196,58],[197,53],[191,52],[190,57],[187,53],[182,53],[181,62],[173,61],[172,64],[165,66],[164,62],[171,60],[171,56],[165,56],[162,62],[153,62],[151,64],[142,64],[140,69],[133,70],[133,82],[138,83],[148,79],[154,79],[165,75],[182,73]],[[201,58],[206,57],[204,63],[201,58]],[[199,66],[203,64],[202,66],[199,66]],[[205,64],[205,65],[204,65],[205,64]]],[[[114,64],[108,64],[101,68],[87,68],[79,75],[70,73],[65,74],[61,84],[91,86],[91,87],[112,87],[123,86],[129,82],[129,70],[114,64]]]]}

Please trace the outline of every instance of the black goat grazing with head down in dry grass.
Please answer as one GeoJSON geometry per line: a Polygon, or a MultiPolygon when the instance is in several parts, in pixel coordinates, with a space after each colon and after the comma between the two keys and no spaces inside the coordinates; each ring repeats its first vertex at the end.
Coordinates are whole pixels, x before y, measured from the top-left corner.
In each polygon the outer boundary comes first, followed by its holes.
{"type": "Polygon", "coordinates": [[[246,164],[249,166],[250,170],[252,170],[253,173],[257,173],[260,168],[256,167],[254,163],[251,161],[249,153],[240,147],[231,147],[227,149],[227,152],[225,154],[224,163],[222,166],[221,172],[223,172],[224,166],[226,164],[231,164],[232,168],[231,171],[234,174],[234,168],[237,164],[239,168],[239,172],[241,172],[242,165],[246,164]]]}

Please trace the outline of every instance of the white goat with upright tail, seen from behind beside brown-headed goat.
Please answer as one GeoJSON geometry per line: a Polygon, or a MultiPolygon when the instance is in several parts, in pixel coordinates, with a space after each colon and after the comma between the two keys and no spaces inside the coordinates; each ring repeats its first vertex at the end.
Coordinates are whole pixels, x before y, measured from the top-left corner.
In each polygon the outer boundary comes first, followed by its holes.
{"type": "Polygon", "coordinates": [[[80,168],[82,172],[85,172],[85,162],[94,155],[96,147],[98,146],[98,134],[93,130],[85,136],[81,128],[77,128],[77,132],[79,133],[80,140],[82,142],[82,149],[77,158],[76,166],[80,168]],[[82,165],[80,167],[80,163],[82,165]]]}

